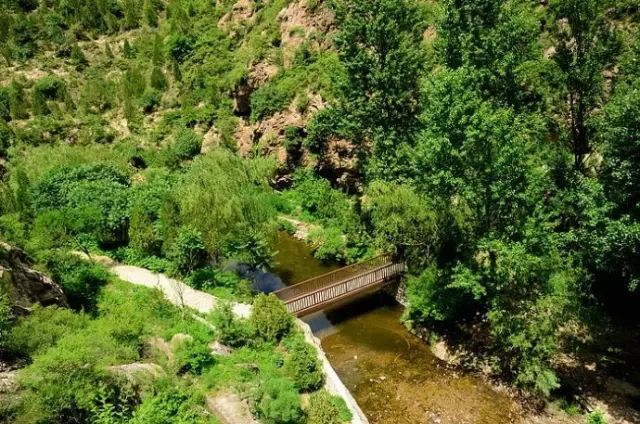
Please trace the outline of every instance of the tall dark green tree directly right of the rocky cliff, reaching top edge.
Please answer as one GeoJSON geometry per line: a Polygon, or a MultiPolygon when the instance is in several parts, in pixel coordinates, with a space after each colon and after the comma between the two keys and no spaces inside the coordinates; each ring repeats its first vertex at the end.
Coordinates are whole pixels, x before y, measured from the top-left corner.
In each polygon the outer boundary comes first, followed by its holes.
{"type": "Polygon", "coordinates": [[[422,10],[414,0],[345,0],[334,12],[344,73],[336,78],[338,106],[317,119],[333,121],[362,150],[373,142],[369,173],[396,176],[419,125],[422,10]]]}

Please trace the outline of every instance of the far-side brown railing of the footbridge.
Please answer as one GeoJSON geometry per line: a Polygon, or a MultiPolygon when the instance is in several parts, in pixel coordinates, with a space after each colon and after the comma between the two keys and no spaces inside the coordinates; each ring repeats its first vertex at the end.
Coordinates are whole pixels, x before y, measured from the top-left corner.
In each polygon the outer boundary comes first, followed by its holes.
{"type": "Polygon", "coordinates": [[[373,271],[374,269],[393,264],[393,259],[393,256],[390,254],[379,255],[335,271],[321,274],[317,277],[309,278],[308,280],[304,280],[300,283],[294,284],[293,286],[284,287],[277,290],[275,295],[283,302],[287,302],[305,294],[313,293],[336,283],[340,283],[345,279],[355,277],[363,272],[373,271]]]}

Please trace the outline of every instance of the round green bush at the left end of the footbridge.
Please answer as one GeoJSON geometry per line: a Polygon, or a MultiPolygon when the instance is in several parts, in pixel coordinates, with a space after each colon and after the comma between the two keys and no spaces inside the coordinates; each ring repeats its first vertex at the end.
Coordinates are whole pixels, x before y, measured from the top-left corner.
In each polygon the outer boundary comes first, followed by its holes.
{"type": "Polygon", "coordinates": [[[249,320],[258,337],[266,341],[279,341],[289,334],[293,326],[291,314],[273,294],[256,297],[249,320]]]}

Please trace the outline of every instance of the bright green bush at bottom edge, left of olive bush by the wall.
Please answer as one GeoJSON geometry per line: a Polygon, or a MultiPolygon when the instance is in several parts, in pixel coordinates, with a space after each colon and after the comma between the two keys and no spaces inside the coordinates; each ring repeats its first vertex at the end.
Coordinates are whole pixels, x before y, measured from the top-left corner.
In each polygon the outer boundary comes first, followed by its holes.
{"type": "Polygon", "coordinates": [[[291,383],[281,378],[261,382],[256,408],[267,424],[297,424],[304,419],[300,396],[291,383]]]}

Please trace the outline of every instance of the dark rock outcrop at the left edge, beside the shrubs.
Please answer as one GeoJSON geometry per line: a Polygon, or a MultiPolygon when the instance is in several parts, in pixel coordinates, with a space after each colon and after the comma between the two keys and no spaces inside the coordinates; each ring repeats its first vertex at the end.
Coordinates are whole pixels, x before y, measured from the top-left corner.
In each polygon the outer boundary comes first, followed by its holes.
{"type": "Polygon", "coordinates": [[[16,314],[24,314],[36,303],[68,306],[62,287],[33,269],[33,261],[22,250],[0,241],[0,286],[16,314]]]}

